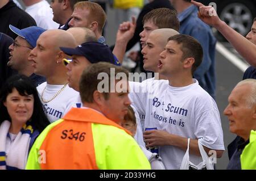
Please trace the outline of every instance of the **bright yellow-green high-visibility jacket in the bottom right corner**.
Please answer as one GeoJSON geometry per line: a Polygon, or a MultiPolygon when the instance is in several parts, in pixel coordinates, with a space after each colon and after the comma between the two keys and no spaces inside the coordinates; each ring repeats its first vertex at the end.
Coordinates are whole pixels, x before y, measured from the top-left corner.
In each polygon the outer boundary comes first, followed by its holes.
{"type": "Polygon", "coordinates": [[[242,170],[256,170],[256,131],[251,131],[249,140],[240,157],[242,170]]]}

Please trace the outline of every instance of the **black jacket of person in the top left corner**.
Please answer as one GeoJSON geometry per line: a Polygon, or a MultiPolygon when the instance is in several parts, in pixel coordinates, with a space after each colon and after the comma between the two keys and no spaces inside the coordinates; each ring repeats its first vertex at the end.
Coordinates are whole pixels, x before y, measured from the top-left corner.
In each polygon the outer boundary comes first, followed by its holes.
{"type": "Polygon", "coordinates": [[[13,0],[10,0],[0,9],[0,19],[0,32],[9,35],[13,39],[18,35],[10,30],[9,24],[19,29],[36,26],[35,20],[27,12],[20,9],[13,0]]]}

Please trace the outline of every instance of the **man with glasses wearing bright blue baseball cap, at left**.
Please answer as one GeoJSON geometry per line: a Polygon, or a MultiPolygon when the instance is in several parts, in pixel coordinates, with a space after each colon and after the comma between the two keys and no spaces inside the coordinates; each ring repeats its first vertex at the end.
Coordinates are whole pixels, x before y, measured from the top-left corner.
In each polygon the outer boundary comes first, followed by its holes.
{"type": "Polygon", "coordinates": [[[18,28],[9,26],[10,30],[16,35],[14,43],[10,45],[10,57],[7,65],[18,71],[19,74],[24,74],[34,82],[35,86],[46,82],[46,78],[34,74],[34,68],[31,61],[28,60],[29,54],[36,47],[36,40],[46,30],[40,27],[32,26],[19,30],[18,28]]]}

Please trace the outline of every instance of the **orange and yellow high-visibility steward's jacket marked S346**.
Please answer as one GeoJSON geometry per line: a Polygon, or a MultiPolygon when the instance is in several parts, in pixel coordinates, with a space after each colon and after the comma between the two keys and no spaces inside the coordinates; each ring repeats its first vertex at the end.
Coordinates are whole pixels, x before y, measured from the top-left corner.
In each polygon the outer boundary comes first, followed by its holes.
{"type": "Polygon", "coordinates": [[[36,139],[26,169],[151,169],[130,132],[91,108],[72,108],[36,139]]]}

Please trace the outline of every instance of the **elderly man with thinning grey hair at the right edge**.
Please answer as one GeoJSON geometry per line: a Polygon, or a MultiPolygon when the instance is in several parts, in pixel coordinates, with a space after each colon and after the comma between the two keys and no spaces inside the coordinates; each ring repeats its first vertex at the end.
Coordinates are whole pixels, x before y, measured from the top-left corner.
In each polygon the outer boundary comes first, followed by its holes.
{"type": "Polygon", "coordinates": [[[224,115],[228,116],[229,130],[241,138],[227,169],[240,170],[240,156],[249,144],[251,130],[256,130],[256,80],[245,79],[239,82],[230,93],[228,101],[224,115]]]}

